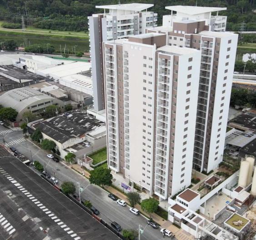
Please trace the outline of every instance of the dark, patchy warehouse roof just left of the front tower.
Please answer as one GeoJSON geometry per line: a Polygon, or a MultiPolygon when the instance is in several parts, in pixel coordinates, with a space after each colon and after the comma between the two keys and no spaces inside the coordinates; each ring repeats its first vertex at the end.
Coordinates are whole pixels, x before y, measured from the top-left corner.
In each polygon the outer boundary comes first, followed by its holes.
{"type": "Polygon", "coordinates": [[[59,115],[33,125],[34,128],[40,129],[42,133],[61,144],[72,138],[80,138],[83,134],[90,133],[101,126],[105,127],[105,123],[80,112],[59,115]]]}

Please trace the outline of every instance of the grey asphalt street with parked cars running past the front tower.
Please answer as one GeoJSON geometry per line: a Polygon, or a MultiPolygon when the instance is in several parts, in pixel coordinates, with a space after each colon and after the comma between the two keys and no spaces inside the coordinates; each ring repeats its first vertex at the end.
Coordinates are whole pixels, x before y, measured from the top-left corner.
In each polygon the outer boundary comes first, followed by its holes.
{"type": "MultiPolygon", "coordinates": [[[[90,184],[89,180],[82,177],[72,169],[65,166],[63,163],[55,163],[46,157],[44,150],[39,149],[34,144],[27,140],[20,140],[23,138],[22,131],[5,132],[7,129],[4,126],[0,126],[0,141],[7,145],[13,145],[21,154],[27,158],[38,160],[42,163],[48,173],[51,176],[55,176],[59,180],[59,185],[64,181],[72,181],[80,184],[83,187],[81,192],[81,198],[90,200],[90,202],[100,211],[100,217],[111,223],[116,221],[123,229],[139,229],[139,225],[144,228],[143,234],[141,234],[141,240],[158,240],[163,239],[160,228],[153,229],[151,226],[147,226],[146,218],[142,215],[136,216],[129,211],[129,206],[120,206],[107,196],[107,192],[102,188],[90,184]]],[[[77,192],[78,195],[78,192],[77,192]]]]}

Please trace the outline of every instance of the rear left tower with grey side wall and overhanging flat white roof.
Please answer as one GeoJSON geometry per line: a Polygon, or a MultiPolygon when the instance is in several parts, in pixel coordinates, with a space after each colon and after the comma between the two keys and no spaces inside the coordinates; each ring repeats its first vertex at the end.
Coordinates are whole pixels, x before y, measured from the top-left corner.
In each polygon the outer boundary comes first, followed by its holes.
{"type": "Polygon", "coordinates": [[[88,17],[96,111],[105,109],[102,42],[141,34],[146,28],[156,26],[157,14],[147,11],[152,6],[152,4],[139,3],[96,6],[96,8],[104,9],[104,13],[88,17]],[[106,13],[105,10],[109,12],[106,13]]]}

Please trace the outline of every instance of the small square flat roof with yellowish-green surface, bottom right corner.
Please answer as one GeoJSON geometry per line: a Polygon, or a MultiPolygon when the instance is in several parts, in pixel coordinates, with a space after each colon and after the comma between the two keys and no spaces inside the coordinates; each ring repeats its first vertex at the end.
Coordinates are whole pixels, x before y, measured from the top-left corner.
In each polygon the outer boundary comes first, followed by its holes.
{"type": "Polygon", "coordinates": [[[234,213],[224,222],[224,225],[229,227],[231,230],[240,233],[249,223],[249,219],[234,213]]]}

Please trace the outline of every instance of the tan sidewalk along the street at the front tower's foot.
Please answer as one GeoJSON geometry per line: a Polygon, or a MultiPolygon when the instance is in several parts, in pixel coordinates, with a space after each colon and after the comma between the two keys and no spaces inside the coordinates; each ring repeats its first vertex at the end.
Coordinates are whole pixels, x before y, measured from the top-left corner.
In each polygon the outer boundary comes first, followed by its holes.
{"type": "MultiPolygon", "coordinates": [[[[78,164],[73,164],[73,169],[79,173],[82,174],[82,168],[80,167],[80,165],[78,164]]],[[[84,176],[85,178],[90,178],[90,173],[88,173],[87,171],[84,170],[84,176]]],[[[125,179],[124,179],[125,181],[125,179]]],[[[105,189],[113,194],[115,194],[116,197],[125,200],[126,202],[128,202],[127,197],[125,194],[123,194],[122,192],[116,190],[114,187],[108,187],[106,186],[105,189]]],[[[145,213],[144,211],[141,210],[141,206],[139,204],[136,204],[135,206],[139,211],[141,211],[143,213],[143,215],[147,216],[148,218],[150,218],[150,216],[145,213]]],[[[160,226],[165,224],[167,221],[163,218],[161,218],[160,216],[158,216],[156,213],[152,213],[151,217],[153,219],[153,221],[157,222],[160,226]]]]}

